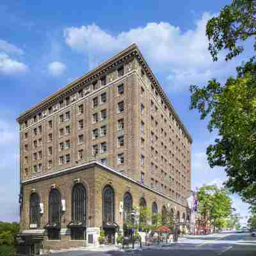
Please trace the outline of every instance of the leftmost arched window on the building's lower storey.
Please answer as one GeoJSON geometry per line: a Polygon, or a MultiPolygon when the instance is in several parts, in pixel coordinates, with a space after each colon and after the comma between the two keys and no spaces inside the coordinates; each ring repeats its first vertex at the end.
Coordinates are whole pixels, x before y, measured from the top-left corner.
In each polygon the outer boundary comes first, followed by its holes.
{"type": "Polygon", "coordinates": [[[30,227],[37,228],[40,225],[40,198],[38,194],[31,194],[29,208],[30,227]]]}

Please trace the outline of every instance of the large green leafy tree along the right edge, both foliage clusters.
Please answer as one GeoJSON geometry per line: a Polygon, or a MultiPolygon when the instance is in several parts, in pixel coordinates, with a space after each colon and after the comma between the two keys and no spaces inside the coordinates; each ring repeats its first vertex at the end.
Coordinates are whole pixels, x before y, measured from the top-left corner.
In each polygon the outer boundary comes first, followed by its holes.
{"type": "MultiPolygon", "coordinates": [[[[209,51],[214,61],[221,50],[230,60],[244,51],[242,41],[256,35],[256,1],[234,0],[206,26],[209,51]]],[[[254,43],[254,49],[256,44],[254,43]]],[[[190,86],[191,109],[201,119],[209,118],[208,129],[218,132],[207,148],[211,167],[223,166],[227,188],[256,205],[256,61],[252,57],[237,67],[237,76],[225,83],[211,79],[205,86],[190,86]]]]}

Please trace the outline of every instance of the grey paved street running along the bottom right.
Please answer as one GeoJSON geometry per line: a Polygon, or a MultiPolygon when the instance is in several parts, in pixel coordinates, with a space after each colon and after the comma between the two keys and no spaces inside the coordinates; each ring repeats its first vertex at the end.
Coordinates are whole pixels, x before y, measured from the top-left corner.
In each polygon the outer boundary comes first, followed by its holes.
{"type": "Polygon", "coordinates": [[[156,256],[156,255],[186,255],[186,256],[255,256],[256,239],[250,234],[221,233],[209,236],[182,237],[177,244],[163,246],[144,246],[143,250],[120,252],[106,248],[92,250],[77,250],[73,252],[53,253],[54,256],[156,256]],[[99,251],[101,250],[101,251],[99,251]]]}

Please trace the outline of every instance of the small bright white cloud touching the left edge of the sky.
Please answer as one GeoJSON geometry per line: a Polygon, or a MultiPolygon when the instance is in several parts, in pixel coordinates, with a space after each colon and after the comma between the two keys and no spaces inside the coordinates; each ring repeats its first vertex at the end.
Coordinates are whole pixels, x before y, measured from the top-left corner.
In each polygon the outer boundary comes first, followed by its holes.
{"type": "Polygon", "coordinates": [[[0,73],[17,74],[28,71],[28,67],[19,61],[13,60],[5,52],[0,52],[0,73]]]}

